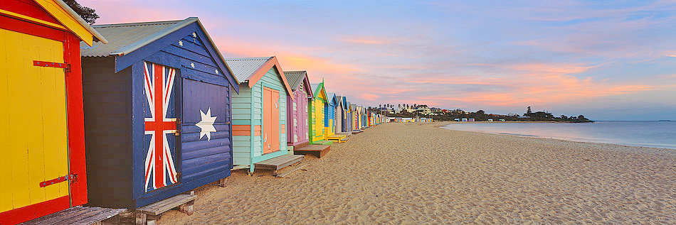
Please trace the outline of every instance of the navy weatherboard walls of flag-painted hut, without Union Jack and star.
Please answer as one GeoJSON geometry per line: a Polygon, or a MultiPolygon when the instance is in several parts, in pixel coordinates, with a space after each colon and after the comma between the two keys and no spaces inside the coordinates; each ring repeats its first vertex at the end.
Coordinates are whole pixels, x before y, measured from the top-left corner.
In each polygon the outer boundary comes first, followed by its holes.
{"type": "Polygon", "coordinates": [[[231,75],[222,70],[215,48],[203,38],[206,33],[191,23],[124,56],[83,57],[88,90],[85,141],[91,146],[88,172],[96,176],[88,183],[90,205],[134,209],[230,175],[232,87],[228,79],[232,78],[226,78],[231,75]],[[145,132],[150,109],[144,90],[148,65],[176,71],[168,111],[175,111],[179,122],[179,134],[166,135],[170,146],[175,146],[171,160],[177,180],[152,190],[145,183],[152,144],[145,132]],[[216,117],[211,123],[216,131],[209,132],[210,138],[197,126],[207,112],[216,117]]]}

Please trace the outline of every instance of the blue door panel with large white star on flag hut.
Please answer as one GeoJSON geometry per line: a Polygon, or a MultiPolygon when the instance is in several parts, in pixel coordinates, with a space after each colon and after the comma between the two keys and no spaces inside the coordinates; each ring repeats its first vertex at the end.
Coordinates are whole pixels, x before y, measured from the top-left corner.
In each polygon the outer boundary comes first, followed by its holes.
{"type": "Polygon", "coordinates": [[[181,162],[183,182],[216,175],[232,166],[230,87],[183,79],[181,162]]]}

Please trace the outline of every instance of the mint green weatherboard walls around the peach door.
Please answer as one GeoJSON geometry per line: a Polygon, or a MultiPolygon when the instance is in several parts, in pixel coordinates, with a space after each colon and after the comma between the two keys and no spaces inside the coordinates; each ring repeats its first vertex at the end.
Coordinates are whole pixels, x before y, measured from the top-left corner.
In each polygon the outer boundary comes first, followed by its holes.
{"type": "Polygon", "coordinates": [[[287,91],[275,67],[249,88],[240,84],[239,94],[233,94],[233,163],[248,165],[253,172],[254,163],[288,153],[286,136],[287,91]],[[280,149],[263,154],[263,88],[279,92],[280,149]]]}

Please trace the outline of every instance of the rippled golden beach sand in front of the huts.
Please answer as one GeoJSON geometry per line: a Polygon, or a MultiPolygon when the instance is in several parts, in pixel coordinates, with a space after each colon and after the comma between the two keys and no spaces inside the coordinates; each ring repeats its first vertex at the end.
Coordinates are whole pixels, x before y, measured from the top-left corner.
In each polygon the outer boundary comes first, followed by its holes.
{"type": "Polygon", "coordinates": [[[382,124],[275,178],[233,171],[160,224],[676,224],[676,150],[382,124]]]}

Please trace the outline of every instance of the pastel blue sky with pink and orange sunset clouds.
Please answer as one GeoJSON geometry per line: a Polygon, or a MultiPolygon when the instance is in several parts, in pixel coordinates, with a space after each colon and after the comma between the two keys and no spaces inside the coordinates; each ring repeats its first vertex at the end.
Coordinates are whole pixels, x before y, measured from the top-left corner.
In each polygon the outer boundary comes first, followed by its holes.
{"type": "Polygon", "coordinates": [[[226,58],[353,104],[676,120],[676,1],[80,0],[96,24],[199,17],[226,58]]]}

